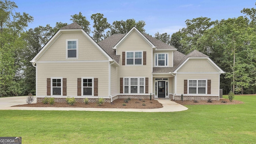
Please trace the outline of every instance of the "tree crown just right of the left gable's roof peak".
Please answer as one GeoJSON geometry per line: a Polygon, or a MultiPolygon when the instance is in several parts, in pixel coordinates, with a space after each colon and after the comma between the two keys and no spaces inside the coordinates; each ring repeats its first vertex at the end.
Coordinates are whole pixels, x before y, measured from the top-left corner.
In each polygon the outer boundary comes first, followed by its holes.
{"type": "Polygon", "coordinates": [[[71,17],[72,18],[70,18],[70,20],[79,24],[82,27],[82,29],[84,29],[84,31],[87,32],[87,34],[90,34],[91,32],[91,29],[89,27],[90,22],[86,19],[85,16],[82,15],[81,12],[79,12],[79,14],[71,15],[71,17]]]}

